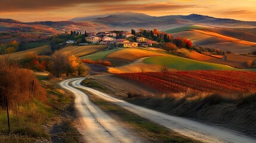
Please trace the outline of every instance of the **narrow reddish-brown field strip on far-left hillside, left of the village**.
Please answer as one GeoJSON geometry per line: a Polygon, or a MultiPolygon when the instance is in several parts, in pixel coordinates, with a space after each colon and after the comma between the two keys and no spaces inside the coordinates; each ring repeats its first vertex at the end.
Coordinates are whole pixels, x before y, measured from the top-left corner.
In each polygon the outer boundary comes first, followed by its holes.
{"type": "MultiPolygon", "coordinates": [[[[36,53],[38,55],[48,53],[51,51],[50,45],[45,45],[45,46],[40,46],[38,48],[32,48],[32,49],[27,49],[25,51],[19,51],[19,52],[14,52],[11,54],[6,54],[5,56],[9,57],[10,60],[19,60],[24,58],[27,54],[29,53],[36,53]]],[[[3,55],[0,55],[2,57],[3,55]]]]}

